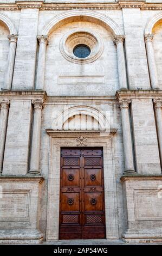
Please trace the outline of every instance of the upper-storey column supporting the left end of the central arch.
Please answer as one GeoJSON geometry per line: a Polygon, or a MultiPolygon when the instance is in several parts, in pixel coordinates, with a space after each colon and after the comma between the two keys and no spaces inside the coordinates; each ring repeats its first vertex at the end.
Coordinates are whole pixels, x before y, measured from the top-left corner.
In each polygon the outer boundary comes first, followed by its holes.
{"type": "Polygon", "coordinates": [[[41,36],[38,36],[37,39],[40,42],[40,50],[38,54],[36,90],[44,90],[44,72],[45,72],[46,46],[48,44],[48,36],[41,35],[41,36]]]}

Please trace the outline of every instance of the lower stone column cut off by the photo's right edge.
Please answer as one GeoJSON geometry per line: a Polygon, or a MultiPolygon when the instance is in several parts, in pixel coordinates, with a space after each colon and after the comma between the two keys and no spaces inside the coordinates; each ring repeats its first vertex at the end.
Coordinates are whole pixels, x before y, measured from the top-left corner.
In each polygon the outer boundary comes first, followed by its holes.
{"type": "Polygon", "coordinates": [[[162,166],[162,100],[153,100],[153,103],[155,109],[155,119],[157,123],[160,162],[162,166]]]}

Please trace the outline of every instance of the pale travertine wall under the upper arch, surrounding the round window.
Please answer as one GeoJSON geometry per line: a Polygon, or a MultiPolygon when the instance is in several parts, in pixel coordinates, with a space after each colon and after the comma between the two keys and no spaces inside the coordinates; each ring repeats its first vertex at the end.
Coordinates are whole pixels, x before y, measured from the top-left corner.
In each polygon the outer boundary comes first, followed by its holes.
{"type": "Polygon", "coordinates": [[[100,24],[76,21],[62,25],[49,37],[46,54],[44,89],[48,95],[86,96],[114,94],[119,89],[116,46],[113,34],[100,24]],[[75,64],[60,52],[60,40],[70,31],[98,34],[104,44],[102,56],[89,64],[75,64]],[[83,80],[85,77],[85,81],[83,80]]]}

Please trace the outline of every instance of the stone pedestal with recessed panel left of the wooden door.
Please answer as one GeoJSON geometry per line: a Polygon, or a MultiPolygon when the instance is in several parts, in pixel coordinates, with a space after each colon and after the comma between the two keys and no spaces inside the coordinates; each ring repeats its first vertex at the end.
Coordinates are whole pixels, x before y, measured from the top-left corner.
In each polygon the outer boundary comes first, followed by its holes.
{"type": "Polygon", "coordinates": [[[38,229],[42,176],[0,177],[0,243],[41,243],[38,229]]]}

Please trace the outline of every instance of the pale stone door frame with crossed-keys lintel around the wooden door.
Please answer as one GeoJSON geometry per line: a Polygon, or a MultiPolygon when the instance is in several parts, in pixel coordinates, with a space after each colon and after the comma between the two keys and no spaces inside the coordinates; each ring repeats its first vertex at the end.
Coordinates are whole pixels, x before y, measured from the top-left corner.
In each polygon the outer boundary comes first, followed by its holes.
{"type": "Polygon", "coordinates": [[[111,132],[53,131],[50,136],[47,241],[59,240],[60,159],[64,147],[102,147],[105,187],[106,239],[119,239],[113,134],[111,132]]]}

